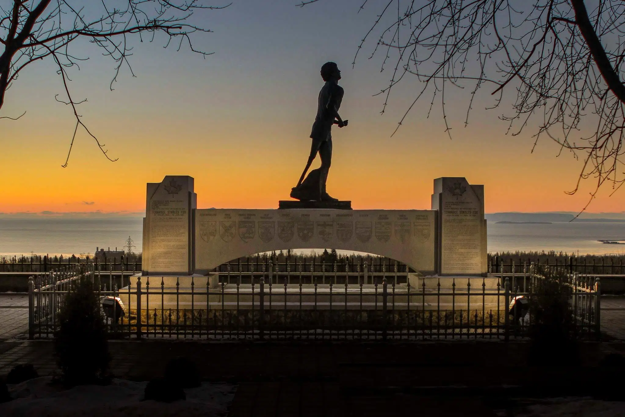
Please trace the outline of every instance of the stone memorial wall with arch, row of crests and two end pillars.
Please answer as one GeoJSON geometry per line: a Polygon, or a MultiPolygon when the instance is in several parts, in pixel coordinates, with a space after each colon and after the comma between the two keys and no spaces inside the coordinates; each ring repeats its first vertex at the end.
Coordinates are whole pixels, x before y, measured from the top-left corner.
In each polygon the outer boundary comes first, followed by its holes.
{"type": "Polygon", "coordinates": [[[424,274],[483,275],[484,188],[434,180],[432,209],[197,209],[193,178],[149,183],[143,274],[207,274],[231,259],[295,248],[334,248],[396,259],[424,274]]]}

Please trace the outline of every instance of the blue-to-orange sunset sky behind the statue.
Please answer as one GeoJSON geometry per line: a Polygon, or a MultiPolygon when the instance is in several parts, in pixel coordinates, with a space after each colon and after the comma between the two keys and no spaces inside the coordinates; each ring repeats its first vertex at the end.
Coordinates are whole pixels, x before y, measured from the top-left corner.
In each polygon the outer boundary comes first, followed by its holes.
{"type": "MultiPolygon", "coordinates": [[[[61,168],[74,128],[71,109],[54,100],[61,81],[51,62],[24,71],[0,111],[27,111],[17,121],[0,120],[0,212],[141,212],[146,183],[167,174],[195,178],[198,208],[277,208],[306,163],[326,61],[341,68],[340,113],[349,119],[347,128],[334,128],[327,187],[353,208],[429,208],[432,180],[441,176],[484,184],[487,213],[584,207],[592,179],[576,195],[564,193],[574,188],[581,161],[568,153],[556,157],[559,149],[547,139],[532,154],[534,126],[506,135],[497,116],[511,108],[485,111],[489,91],[474,103],[466,128],[468,92],[449,94],[452,139],[439,105],[426,117],[429,98],[391,137],[419,83],[400,84],[381,115],[384,98],[372,94],[386,87],[392,68],[381,73],[383,56],[367,59],[374,44],[365,44],[351,68],[376,9],[357,14],[361,0],[294,3],[235,1],[204,14],[214,33],[199,36],[196,47],[214,52],[206,59],[163,49],[165,39],[136,40],[137,77],[124,70],[114,91],[114,63],[88,43],[77,44],[91,59],[80,71],[71,69],[71,88],[76,99],[88,99],[79,108],[84,123],[119,158],[115,163],[79,131],[69,166],[61,168]]],[[[609,197],[611,191],[604,188],[589,211],[623,211],[625,188],[609,197]]]]}

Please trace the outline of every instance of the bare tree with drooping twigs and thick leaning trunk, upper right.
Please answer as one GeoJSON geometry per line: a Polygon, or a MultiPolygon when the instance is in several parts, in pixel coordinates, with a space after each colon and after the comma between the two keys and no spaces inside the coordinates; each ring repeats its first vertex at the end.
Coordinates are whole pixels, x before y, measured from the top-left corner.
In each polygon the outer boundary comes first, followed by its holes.
{"type": "Polygon", "coordinates": [[[624,2],[363,0],[361,9],[365,5],[380,11],[352,65],[370,38],[377,41],[369,58],[384,54],[382,70],[389,60],[394,63],[389,85],[378,93],[385,96],[382,113],[404,76],[412,74],[422,83],[397,128],[425,100],[428,115],[434,103],[441,104],[451,137],[449,88],[469,93],[466,126],[475,94],[487,86],[492,107],[512,101],[512,111],[501,116],[512,136],[528,124],[536,126],[536,141],[546,135],[582,159],[569,194],[576,193],[582,179],[595,178],[589,204],[604,183],[616,190],[625,181],[624,2]]]}

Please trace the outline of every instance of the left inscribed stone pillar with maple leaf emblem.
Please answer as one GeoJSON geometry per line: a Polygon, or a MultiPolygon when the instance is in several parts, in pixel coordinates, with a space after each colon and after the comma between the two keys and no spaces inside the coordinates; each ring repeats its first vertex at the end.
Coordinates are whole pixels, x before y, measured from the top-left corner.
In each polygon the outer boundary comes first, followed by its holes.
{"type": "Polygon", "coordinates": [[[148,183],[143,218],[142,273],[190,275],[194,270],[193,178],[168,175],[148,183]]]}

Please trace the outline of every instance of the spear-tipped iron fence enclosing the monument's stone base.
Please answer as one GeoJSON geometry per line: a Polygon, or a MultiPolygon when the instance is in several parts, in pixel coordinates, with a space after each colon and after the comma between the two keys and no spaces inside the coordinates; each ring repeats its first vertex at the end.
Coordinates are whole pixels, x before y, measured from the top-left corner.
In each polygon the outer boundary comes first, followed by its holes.
{"type": "MultiPolygon", "coordinates": [[[[511,301],[531,298],[537,280],[544,279],[534,268],[521,276],[490,278],[402,275],[394,266],[372,271],[366,263],[356,269],[306,272],[302,265],[281,271],[269,262],[259,270],[237,271],[229,280],[218,272],[149,276],[111,288],[93,265],[83,274],[70,266],[31,278],[29,337],[54,335],[56,313],[72,283],[83,278],[101,299],[123,305],[109,311],[112,338],[508,340],[526,337],[532,325],[531,314],[510,309],[511,301]]],[[[599,338],[599,279],[573,273],[562,284],[571,289],[576,336],[599,338]]]]}

